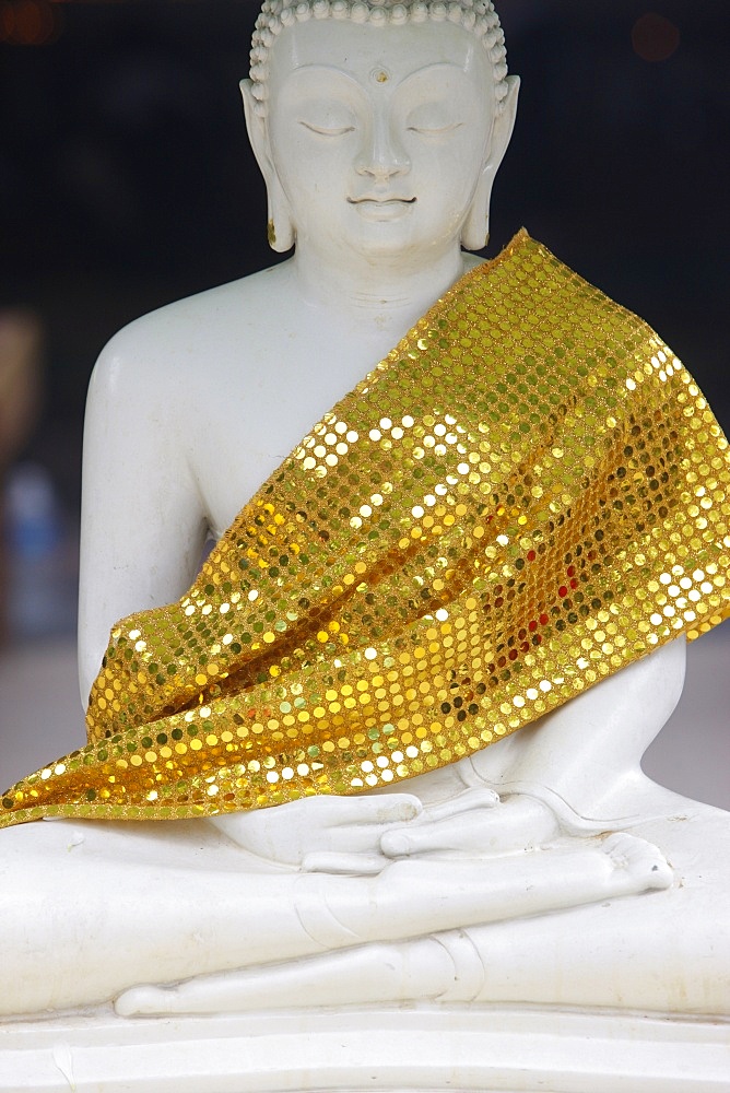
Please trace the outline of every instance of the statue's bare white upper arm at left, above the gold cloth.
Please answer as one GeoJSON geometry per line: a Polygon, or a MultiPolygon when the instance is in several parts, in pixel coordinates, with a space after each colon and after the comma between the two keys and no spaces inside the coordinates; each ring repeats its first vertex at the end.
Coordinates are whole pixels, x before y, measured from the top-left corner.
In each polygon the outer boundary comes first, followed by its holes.
{"type": "Polygon", "coordinates": [[[174,354],[156,352],[144,321],[106,346],[86,402],[79,589],[84,705],[111,626],[185,591],[207,530],[182,444],[185,380],[175,374],[174,354]]]}

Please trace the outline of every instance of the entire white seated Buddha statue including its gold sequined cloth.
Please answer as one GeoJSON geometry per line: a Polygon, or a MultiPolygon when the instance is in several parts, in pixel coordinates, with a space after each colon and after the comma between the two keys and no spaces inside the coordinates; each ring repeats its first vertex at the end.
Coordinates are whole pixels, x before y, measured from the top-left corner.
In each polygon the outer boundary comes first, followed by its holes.
{"type": "Polygon", "coordinates": [[[526,233],[466,252],[488,0],[267,0],[242,90],[294,254],[95,369],[89,745],[3,795],[0,1009],[727,1015],[728,816],[640,769],[728,610],[715,419],[526,233]]]}

